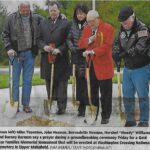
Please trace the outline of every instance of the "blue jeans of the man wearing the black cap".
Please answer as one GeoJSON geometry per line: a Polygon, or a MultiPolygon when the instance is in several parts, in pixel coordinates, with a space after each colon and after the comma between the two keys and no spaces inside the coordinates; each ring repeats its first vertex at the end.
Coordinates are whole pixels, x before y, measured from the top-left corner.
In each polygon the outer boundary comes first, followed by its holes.
{"type": "Polygon", "coordinates": [[[134,121],[135,92],[139,98],[140,122],[149,120],[150,65],[138,69],[123,70],[123,100],[127,121],[134,121]]]}

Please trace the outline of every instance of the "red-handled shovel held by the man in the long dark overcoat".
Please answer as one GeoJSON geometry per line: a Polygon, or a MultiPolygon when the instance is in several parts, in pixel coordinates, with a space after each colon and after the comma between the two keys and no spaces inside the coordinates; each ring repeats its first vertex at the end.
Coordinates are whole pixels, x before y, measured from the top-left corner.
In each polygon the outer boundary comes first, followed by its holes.
{"type": "Polygon", "coordinates": [[[48,61],[51,64],[51,79],[50,79],[50,98],[44,100],[44,112],[47,116],[50,115],[50,110],[53,101],[54,60],[55,60],[55,56],[48,53],[48,61]]]}

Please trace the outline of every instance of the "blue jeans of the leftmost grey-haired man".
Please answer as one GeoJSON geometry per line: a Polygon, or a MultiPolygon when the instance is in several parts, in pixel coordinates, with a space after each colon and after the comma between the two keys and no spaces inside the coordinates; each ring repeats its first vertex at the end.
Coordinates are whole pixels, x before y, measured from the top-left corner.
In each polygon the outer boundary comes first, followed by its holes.
{"type": "Polygon", "coordinates": [[[31,50],[19,52],[13,62],[13,100],[19,101],[19,82],[22,71],[22,105],[29,106],[35,57],[31,50]]]}

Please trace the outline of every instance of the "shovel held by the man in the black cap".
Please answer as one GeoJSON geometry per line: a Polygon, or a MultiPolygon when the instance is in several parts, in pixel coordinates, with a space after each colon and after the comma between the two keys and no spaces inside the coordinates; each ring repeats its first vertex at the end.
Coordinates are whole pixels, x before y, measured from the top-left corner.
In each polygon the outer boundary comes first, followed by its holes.
{"type": "Polygon", "coordinates": [[[122,111],[120,65],[121,65],[121,62],[116,63],[116,66],[117,66],[117,83],[118,83],[118,104],[119,104],[120,118],[121,118],[121,120],[124,120],[126,118],[126,115],[125,115],[125,112],[122,111]]]}

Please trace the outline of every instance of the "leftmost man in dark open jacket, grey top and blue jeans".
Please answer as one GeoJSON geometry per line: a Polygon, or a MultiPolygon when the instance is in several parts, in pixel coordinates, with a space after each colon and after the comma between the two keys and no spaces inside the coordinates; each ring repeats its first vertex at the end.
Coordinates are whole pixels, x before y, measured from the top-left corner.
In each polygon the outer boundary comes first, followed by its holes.
{"type": "MultiPolygon", "coordinates": [[[[31,13],[30,4],[21,2],[18,12],[8,16],[2,33],[8,56],[13,59],[13,100],[19,101],[19,81],[22,70],[22,105],[26,113],[29,107],[35,56],[38,53],[38,24],[42,17],[31,13]]],[[[19,109],[18,109],[19,111],[19,109]]]]}

